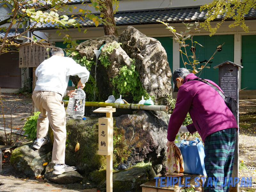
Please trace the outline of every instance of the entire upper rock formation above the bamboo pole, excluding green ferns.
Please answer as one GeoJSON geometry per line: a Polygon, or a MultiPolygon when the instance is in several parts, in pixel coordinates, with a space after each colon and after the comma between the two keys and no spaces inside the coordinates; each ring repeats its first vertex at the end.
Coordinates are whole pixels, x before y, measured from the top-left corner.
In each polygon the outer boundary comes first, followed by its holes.
{"type": "MultiPolygon", "coordinates": [[[[119,75],[121,67],[130,67],[133,59],[136,70],[139,72],[142,88],[150,96],[155,97],[155,104],[167,104],[166,98],[172,95],[172,73],[167,61],[167,54],[158,40],[147,37],[137,29],[128,26],[117,38],[115,36],[103,36],[96,40],[88,40],[76,46],[76,51],[81,56],[86,56],[88,60],[93,59],[96,62],[93,50],[98,50],[101,46],[101,55],[106,54],[111,64],[106,68],[104,63],[100,63],[98,60],[96,71],[95,66],[92,66],[90,70],[93,78],[96,73],[96,84],[99,91],[95,101],[107,100],[113,91],[118,94],[116,85],[112,84],[111,79],[119,75]],[[116,48],[111,52],[107,51],[109,46],[113,45],[116,48]],[[107,52],[103,53],[104,51],[107,52]]],[[[72,81],[77,83],[74,79],[72,81]]],[[[90,91],[86,92],[88,98],[92,98],[90,94],[90,91]]],[[[123,95],[126,95],[124,99],[129,103],[138,103],[138,98],[142,96],[134,97],[131,92],[123,93],[123,95]]]]}

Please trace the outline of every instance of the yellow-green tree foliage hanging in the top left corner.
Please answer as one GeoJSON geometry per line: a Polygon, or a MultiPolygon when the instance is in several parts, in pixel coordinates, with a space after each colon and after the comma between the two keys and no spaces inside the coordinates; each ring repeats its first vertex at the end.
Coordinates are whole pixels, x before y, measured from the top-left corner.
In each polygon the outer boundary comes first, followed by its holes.
{"type": "Polygon", "coordinates": [[[0,13],[0,31],[5,32],[5,36],[0,37],[0,55],[8,52],[10,45],[17,45],[16,40],[20,37],[40,44],[45,39],[37,40],[35,36],[28,37],[26,34],[35,31],[38,25],[44,23],[54,25],[57,33],[64,36],[63,40],[64,43],[68,43],[68,48],[75,45],[76,41],[71,40],[67,32],[68,28],[72,27],[77,28],[79,32],[83,30],[86,33],[86,29],[82,29],[83,26],[79,23],[80,20],[92,20],[96,27],[101,23],[111,25],[106,18],[102,19],[105,16],[102,10],[107,9],[104,2],[105,0],[93,0],[92,3],[85,1],[81,3],[84,8],[81,6],[77,8],[76,5],[70,4],[71,0],[0,0],[0,4],[8,10],[6,14],[0,13]],[[98,14],[93,14],[92,9],[88,8],[93,8],[98,14]],[[19,32],[19,29],[24,30],[19,32]]]}

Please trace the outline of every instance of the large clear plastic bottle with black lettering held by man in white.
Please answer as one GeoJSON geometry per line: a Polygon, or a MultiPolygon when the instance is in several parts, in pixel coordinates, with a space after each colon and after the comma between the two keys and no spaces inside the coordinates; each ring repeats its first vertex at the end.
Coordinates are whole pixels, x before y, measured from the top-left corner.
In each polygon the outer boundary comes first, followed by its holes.
{"type": "Polygon", "coordinates": [[[84,116],[85,92],[80,87],[75,91],[77,95],[69,99],[66,114],[72,117],[84,116]]]}

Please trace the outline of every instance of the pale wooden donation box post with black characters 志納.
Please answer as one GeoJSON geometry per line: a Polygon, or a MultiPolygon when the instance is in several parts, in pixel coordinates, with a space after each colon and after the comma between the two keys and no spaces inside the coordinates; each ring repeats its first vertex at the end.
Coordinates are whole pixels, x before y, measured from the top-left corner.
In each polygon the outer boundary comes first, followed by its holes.
{"type": "Polygon", "coordinates": [[[108,106],[98,108],[93,112],[106,113],[106,117],[99,118],[99,155],[107,156],[107,192],[113,191],[113,117],[116,108],[108,106]]]}

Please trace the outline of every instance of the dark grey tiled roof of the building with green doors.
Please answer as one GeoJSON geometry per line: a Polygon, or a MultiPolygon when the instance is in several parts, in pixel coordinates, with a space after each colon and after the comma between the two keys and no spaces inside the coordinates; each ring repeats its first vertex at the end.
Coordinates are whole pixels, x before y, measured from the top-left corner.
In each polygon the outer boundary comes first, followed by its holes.
{"type": "MultiPolygon", "coordinates": [[[[75,0],[73,0],[75,1],[75,0]]],[[[77,0],[79,1],[79,0],[77,0]]],[[[164,9],[164,10],[147,10],[147,11],[129,11],[117,12],[115,14],[116,25],[136,25],[136,24],[154,24],[157,20],[166,23],[178,22],[195,22],[204,21],[206,19],[206,10],[200,11],[199,7],[184,9],[164,9]]],[[[222,19],[222,15],[218,15],[215,20],[222,19]]],[[[256,9],[251,9],[248,14],[244,15],[245,19],[256,19],[256,9]]],[[[71,19],[71,18],[70,18],[71,19]]],[[[76,19],[77,20],[77,19],[76,19]]],[[[94,22],[83,18],[79,20],[84,27],[94,27],[94,22]],[[84,21],[83,21],[84,20],[84,21]]],[[[102,26],[102,24],[101,24],[102,26]]],[[[54,28],[52,23],[38,24],[38,28],[54,28]]]]}

